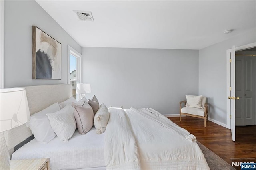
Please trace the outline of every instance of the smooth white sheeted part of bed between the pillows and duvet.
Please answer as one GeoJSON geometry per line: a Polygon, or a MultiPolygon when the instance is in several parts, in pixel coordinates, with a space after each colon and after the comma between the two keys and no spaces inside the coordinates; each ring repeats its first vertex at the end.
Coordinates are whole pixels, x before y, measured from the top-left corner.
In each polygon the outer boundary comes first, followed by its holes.
{"type": "Polygon", "coordinates": [[[30,158],[50,158],[50,168],[80,169],[105,167],[104,135],[96,134],[92,129],[85,135],[78,130],[68,142],[61,141],[56,136],[47,144],[31,140],[12,154],[12,160],[30,158]]]}

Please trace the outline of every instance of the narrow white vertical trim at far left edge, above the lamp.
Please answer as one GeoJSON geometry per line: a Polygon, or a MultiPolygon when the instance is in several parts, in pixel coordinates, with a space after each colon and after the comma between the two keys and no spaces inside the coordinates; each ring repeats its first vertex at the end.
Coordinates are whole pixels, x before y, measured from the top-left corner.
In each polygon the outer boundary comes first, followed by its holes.
{"type": "Polygon", "coordinates": [[[0,89],[4,88],[4,0],[0,0],[0,89]]]}

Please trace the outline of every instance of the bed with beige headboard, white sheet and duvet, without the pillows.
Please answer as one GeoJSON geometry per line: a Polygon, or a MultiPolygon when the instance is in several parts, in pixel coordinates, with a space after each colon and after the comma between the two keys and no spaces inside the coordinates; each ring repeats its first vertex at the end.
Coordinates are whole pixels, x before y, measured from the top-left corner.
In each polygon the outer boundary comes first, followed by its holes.
{"type": "MultiPolygon", "coordinates": [[[[68,84],[24,88],[31,114],[72,95],[68,84]]],[[[5,134],[12,160],[47,157],[51,169],[209,169],[195,136],[154,109],[108,111],[103,134],[93,127],[85,135],[76,130],[68,141],[56,136],[42,144],[33,139],[12,154],[14,146],[32,135],[26,126],[15,128],[5,134]]]]}

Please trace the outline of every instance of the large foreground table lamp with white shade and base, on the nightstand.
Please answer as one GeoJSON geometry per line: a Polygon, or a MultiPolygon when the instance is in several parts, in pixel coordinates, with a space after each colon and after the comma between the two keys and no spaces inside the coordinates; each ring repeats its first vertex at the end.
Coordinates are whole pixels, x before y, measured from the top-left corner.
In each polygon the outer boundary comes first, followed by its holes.
{"type": "Polygon", "coordinates": [[[0,89],[0,169],[10,169],[10,154],[3,132],[23,125],[29,119],[26,90],[0,89]]]}

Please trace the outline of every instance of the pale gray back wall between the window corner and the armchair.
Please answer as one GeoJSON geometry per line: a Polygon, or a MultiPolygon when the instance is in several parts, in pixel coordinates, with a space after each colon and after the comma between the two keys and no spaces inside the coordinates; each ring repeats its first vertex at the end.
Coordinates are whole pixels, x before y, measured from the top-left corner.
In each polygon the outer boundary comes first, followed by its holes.
{"type": "Polygon", "coordinates": [[[198,50],[82,48],[82,81],[107,107],[152,107],[179,114],[186,94],[198,95],[198,50]]]}

